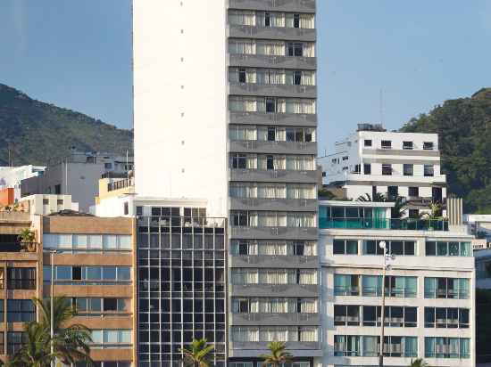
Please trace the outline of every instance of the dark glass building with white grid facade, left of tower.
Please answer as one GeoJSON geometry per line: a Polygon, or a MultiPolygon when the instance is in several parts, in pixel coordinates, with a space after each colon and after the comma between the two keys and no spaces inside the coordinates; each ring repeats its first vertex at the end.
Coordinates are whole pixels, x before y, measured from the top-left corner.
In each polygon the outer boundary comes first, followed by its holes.
{"type": "Polygon", "coordinates": [[[137,218],[139,365],[180,367],[193,338],[212,343],[213,363],[225,365],[226,221],[197,208],[151,214],[137,218]]]}

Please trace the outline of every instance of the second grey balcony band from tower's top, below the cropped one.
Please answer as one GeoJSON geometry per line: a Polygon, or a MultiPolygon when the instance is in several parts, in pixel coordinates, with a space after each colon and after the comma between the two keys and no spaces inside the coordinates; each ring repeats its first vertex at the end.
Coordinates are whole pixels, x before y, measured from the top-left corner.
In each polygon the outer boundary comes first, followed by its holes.
{"type": "Polygon", "coordinates": [[[229,37],[315,42],[315,29],[229,25],[229,37]]]}

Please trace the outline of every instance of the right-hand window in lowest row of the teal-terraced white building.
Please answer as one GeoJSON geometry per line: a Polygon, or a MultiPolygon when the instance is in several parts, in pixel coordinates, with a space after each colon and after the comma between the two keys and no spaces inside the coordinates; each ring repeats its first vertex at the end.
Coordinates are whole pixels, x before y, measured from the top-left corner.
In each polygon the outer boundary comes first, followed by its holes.
{"type": "Polygon", "coordinates": [[[425,358],[470,358],[470,338],[425,337],[425,358]]]}

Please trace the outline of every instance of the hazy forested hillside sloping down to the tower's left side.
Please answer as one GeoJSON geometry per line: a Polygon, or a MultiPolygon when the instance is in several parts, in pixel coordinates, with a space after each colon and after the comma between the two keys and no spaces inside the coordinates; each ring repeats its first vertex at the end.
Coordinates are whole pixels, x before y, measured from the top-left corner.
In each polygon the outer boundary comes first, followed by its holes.
{"type": "Polygon", "coordinates": [[[46,165],[79,151],[132,154],[133,132],[82,113],[39,102],[0,84],[0,166],[46,165]]]}

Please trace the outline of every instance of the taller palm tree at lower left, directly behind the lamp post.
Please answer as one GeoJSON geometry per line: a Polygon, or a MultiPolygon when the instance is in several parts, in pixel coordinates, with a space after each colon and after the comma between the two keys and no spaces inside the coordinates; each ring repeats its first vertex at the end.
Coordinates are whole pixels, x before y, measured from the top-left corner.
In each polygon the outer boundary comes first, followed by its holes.
{"type": "MultiPolygon", "coordinates": [[[[51,300],[45,301],[34,298],[41,311],[40,326],[49,335],[51,331],[51,300]]],[[[90,330],[81,324],[70,324],[71,318],[77,315],[76,309],[71,306],[69,298],[55,297],[54,306],[54,355],[65,364],[85,361],[93,365],[89,356],[88,343],[92,341],[90,330]]]]}

